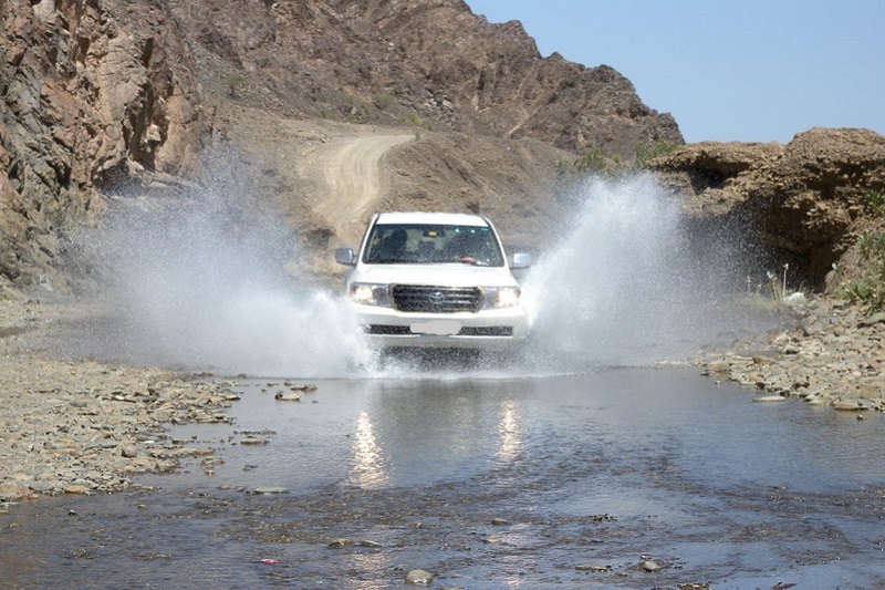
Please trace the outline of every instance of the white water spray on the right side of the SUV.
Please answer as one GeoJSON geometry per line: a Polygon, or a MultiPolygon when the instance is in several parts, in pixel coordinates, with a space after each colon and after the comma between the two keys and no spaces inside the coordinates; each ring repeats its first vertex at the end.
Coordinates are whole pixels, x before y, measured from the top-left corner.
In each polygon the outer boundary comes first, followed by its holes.
{"type": "Polygon", "coordinates": [[[591,178],[573,197],[573,225],[527,280],[528,364],[574,372],[675,360],[770,321],[736,304],[736,244],[693,244],[654,176],[591,178]]]}

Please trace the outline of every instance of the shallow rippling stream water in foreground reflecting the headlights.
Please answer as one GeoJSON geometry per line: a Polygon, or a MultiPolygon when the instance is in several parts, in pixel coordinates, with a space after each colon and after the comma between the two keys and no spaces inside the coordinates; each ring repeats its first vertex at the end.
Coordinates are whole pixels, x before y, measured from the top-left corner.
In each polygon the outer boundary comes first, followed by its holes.
{"type": "Polygon", "coordinates": [[[0,586],[885,588],[881,415],[686,369],[316,384],[242,380],[235,425],[176,427],[214,475],[13,507],[0,586]]]}

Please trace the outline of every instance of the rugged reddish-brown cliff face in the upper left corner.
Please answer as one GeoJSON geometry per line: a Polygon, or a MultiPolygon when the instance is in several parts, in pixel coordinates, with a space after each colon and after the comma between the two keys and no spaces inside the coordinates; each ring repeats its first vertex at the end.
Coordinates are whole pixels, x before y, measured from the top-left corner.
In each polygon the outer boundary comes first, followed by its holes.
{"type": "Polygon", "coordinates": [[[101,190],[196,164],[194,63],[154,4],[6,0],[0,19],[0,277],[64,288],[56,270],[101,190]]]}

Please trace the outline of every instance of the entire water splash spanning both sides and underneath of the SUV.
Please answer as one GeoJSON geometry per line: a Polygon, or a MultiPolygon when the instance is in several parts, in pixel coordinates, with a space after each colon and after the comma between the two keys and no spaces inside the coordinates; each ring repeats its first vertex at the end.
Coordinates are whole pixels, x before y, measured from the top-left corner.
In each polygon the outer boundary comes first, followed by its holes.
{"type": "MultiPolygon", "coordinates": [[[[257,201],[244,205],[246,175],[219,163],[171,205],[116,207],[110,229],[87,240],[117,320],[95,324],[81,344],[222,374],[413,376],[414,363],[378,363],[366,350],[339,293],[285,271],[303,255],[291,229],[256,213],[257,201]]],[[[732,291],[720,266],[693,251],[677,204],[653,177],[590,180],[574,198],[574,221],[555,228],[559,241],[524,280],[532,335],[508,375],[646,363],[747,325],[725,311],[732,291]]],[[[500,360],[429,373],[465,374],[500,375],[500,360]]]]}

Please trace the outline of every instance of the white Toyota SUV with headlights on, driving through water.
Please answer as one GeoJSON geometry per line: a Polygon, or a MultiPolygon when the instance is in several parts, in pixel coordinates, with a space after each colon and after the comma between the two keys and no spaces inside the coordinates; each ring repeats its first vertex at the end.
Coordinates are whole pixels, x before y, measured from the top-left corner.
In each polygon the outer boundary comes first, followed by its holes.
{"type": "Polygon", "coordinates": [[[346,290],[374,348],[507,349],[529,331],[520,287],[485,217],[440,213],[376,214],[358,256],[335,250],[350,268],[346,290]]]}

